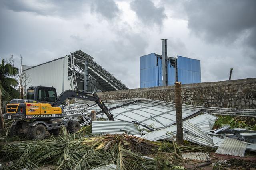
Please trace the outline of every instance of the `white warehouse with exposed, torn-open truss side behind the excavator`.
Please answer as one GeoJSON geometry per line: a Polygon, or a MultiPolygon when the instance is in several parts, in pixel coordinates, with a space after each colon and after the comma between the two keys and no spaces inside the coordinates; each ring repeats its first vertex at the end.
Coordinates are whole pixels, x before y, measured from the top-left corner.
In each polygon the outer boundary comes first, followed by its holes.
{"type": "Polygon", "coordinates": [[[53,86],[58,95],[64,90],[104,92],[128,89],[81,50],[37,66],[23,65],[22,74],[26,77],[24,89],[30,86],[53,86]]]}

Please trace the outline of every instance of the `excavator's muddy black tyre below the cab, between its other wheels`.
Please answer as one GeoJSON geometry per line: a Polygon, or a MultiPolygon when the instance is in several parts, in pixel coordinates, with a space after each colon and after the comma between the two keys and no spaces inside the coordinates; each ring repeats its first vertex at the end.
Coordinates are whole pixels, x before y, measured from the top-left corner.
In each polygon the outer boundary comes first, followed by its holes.
{"type": "Polygon", "coordinates": [[[44,139],[45,134],[46,134],[46,129],[45,129],[45,126],[42,124],[29,127],[28,135],[31,139],[44,139]]]}

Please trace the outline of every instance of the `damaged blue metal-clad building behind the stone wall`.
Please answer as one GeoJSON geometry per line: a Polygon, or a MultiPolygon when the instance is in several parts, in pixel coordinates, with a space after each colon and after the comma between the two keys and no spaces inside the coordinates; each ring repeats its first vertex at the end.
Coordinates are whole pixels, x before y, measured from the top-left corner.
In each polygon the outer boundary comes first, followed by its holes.
{"type": "MultiPolygon", "coordinates": [[[[200,83],[200,60],[178,56],[167,57],[167,84],[174,85],[176,80],[182,84],[200,83]]],[[[151,53],[140,57],[140,88],[162,86],[162,55],[151,53]]]]}

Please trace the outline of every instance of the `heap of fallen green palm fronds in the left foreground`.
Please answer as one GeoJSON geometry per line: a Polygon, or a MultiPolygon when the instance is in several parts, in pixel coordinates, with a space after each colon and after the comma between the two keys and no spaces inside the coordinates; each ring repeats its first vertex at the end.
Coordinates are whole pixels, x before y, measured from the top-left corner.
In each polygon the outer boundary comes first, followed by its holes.
{"type": "MultiPolygon", "coordinates": [[[[145,159],[136,150],[142,150],[147,144],[139,144],[136,137],[127,135],[106,135],[95,138],[77,139],[71,135],[42,141],[22,141],[20,143],[6,143],[0,147],[0,159],[12,165],[5,169],[33,169],[45,164],[53,164],[57,169],[91,169],[117,164],[121,169],[129,167],[143,167],[154,169],[155,161],[145,159]],[[137,143],[136,147],[132,147],[137,143]],[[121,153],[121,154],[120,154],[121,153]],[[118,160],[122,158],[123,164],[118,160]]],[[[152,144],[150,144],[152,145],[152,144]]]]}

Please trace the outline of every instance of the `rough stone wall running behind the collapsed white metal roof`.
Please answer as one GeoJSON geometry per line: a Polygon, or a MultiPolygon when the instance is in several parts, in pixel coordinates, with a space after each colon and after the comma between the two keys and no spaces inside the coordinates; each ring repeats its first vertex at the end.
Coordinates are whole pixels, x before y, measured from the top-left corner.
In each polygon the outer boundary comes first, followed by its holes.
{"type": "MultiPolygon", "coordinates": [[[[148,98],[174,101],[174,86],[100,92],[102,100],[148,98]]],[[[256,78],[182,85],[182,103],[196,106],[256,109],[256,78]]]]}

